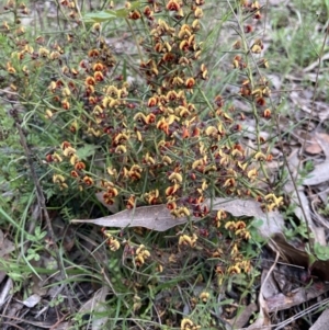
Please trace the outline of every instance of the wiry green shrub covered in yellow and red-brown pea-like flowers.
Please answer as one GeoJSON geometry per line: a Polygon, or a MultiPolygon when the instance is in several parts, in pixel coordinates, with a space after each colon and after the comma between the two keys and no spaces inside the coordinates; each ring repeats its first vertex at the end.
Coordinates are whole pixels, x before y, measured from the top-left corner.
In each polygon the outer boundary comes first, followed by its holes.
{"type": "MultiPolygon", "coordinates": [[[[220,94],[218,86],[211,100],[201,41],[204,2],[135,1],[83,21],[75,2],[59,1],[71,30],[58,38],[33,36],[31,43],[23,27],[3,23],[7,53],[12,54],[2,72],[8,94],[15,95],[13,107],[15,102],[23,106],[14,118],[43,159],[39,177],[53,196],[49,203],[60,205],[75,196],[82,204],[100,193],[113,212],[167,204],[173,217],[208,216],[218,237],[234,240],[224,254],[213,242],[207,251],[227,258],[227,265],[216,268],[223,277],[250,272],[250,260],[243,260],[240,249],[250,231],[245,220],[222,210],[212,214],[204,201],[257,198],[272,210],[282,197],[265,170],[271,141],[260,136],[271,118],[271,89],[262,72],[268,61],[257,37],[260,5],[241,1],[232,9],[237,39],[228,71],[235,71],[238,88],[220,94]],[[126,24],[128,45],[137,50],[129,61],[106,39],[114,19],[126,24]],[[235,105],[237,100],[256,122],[253,144],[245,139],[246,114],[235,105]]],[[[12,3],[7,10],[14,18],[24,14],[24,5],[12,3]]],[[[180,236],[180,248],[197,246],[200,232],[190,231],[180,236]]],[[[118,237],[104,235],[111,250],[117,250],[118,237]]],[[[134,248],[134,262],[141,266],[150,252],[144,244],[134,248]]]]}

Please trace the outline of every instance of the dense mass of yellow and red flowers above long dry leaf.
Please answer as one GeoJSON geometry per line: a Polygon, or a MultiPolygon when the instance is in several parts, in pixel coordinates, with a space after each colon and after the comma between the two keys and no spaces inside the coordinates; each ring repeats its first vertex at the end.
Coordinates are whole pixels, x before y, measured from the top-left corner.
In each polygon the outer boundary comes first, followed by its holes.
{"type": "MultiPolygon", "coordinates": [[[[71,140],[86,135],[103,146],[103,172],[107,175],[87,175],[90,166],[72,155],[67,177],[80,189],[102,191],[107,205],[133,208],[167,203],[173,217],[204,217],[209,213],[203,205],[206,197],[261,194],[254,189],[259,163],[271,157],[261,149],[247,152],[240,143],[243,114],[220,95],[213,103],[195,98],[208,75],[201,61],[202,43],[197,42],[204,1],[188,2],[169,1],[166,7],[152,3],[129,14],[134,24],[144,16],[149,26],[147,37],[139,43],[147,57],[139,64],[148,86],[143,95],[136,94],[123,77],[113,77],[117,60],[101,36],[100,23],[93,26],[99,34],[98,47],[91,47],[76,67],[64,65],[63,78],[49,84],[53,109],[69,112],[71,140]],[[78,88],[81,81],[82,89],[78,88]]],[[[246,10],[259,10],[254,3],[248,5],[246,10]]],[[[256,41],[251,52],[257,54],[261,47],[256,41]]],[[[38,53],[56,58],[44,48],[38,53]]],[[[243,70],[246,66],[242,57],[235,57],[235,68],[243,70]]],[[[261,100],[270,89],[264,80],[258,84],[245,80],[240,93],[263,106],[261,100]]],[[[52,117],[53,112],[45,109],[45,116],[52,117]]],[[[268,110],[264,116],[270,116],[268,110]]],[[[47,160],[59,163],[69,150],[61,148],[47,160]]],[[[67,177],[64,170],[60,174],[63,178],[54,182],[64,189],[67,177]]]]}

